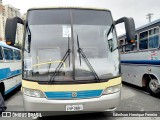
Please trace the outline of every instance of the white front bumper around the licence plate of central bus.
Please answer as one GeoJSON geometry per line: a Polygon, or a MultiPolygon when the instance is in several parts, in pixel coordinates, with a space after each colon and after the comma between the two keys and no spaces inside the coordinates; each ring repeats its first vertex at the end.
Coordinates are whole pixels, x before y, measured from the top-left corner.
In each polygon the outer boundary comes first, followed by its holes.
{"type": "MultiPolygon", "coordinates": [[[[83,111],[112,111],[119,106],[121,92],[102,95],[99,98],[78,100],[48,100],[23,95],[25,111],[66,111],[68,105],[83,105],[83,111]]],[[[55,112],[57,113],[57,112],[55,112]]],[[[53,113],[54,114],[54,113],[53,113]]]]}

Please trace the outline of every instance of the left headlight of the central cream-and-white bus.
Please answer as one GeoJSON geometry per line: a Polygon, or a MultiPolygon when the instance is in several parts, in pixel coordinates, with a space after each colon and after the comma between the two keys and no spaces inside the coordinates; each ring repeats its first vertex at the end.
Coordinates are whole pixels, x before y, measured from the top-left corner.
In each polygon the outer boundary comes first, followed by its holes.
{"type": "Polygon", "coordinates": [[[40,90],[23,88],[23,94],[31,97],[44,98],[43,93],[40,90]]]}

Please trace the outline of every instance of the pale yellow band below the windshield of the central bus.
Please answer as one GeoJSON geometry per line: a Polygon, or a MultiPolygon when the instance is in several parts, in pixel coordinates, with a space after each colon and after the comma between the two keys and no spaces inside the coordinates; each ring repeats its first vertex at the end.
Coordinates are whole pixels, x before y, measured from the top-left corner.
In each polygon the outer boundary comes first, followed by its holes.
{"type": "Polygon", "coordinates": [[[30,82],[22,80],[22,87],[37,89],[43,92],[47,91],[83,91],[83,90],[101,90],[110,86],[121,84],[121,77],[111,79],[108,82],[88,83],[88,84],[66,84],[66,85],[46,85],[38,84],[37,82],[30,82]]]}

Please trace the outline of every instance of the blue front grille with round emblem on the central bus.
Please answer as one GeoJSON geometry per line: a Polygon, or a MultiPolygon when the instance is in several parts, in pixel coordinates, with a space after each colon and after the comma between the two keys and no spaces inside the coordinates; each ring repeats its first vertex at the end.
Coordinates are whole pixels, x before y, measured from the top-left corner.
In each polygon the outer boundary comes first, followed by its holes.
{"type": "Polygon", "coordinates": [[[48,99],[86,99],[100,97],[103,90],[87,90],[75,92],[45,92],[48,99]]]}

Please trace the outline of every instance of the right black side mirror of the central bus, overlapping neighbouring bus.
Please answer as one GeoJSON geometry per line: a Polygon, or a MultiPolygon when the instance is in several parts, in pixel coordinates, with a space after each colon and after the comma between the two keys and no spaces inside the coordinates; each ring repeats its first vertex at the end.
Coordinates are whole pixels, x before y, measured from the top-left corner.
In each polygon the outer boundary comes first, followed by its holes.
{"type": "Polygon", "coordinates": [[[134,43],[135,42],[135,23],[133,18],[123,17],[116,20],[114,24],[116,25],[123,22],[125,24],[127,42],[134,43]]]}

